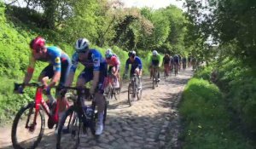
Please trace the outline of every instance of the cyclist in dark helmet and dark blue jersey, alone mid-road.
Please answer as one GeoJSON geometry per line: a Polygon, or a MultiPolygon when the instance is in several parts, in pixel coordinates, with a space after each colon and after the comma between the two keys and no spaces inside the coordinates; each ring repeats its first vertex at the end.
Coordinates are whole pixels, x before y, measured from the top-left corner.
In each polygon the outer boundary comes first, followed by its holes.
{"type": "Polygon", "coordinates": [[[128,73],[128,69],[129,69],[129,64],[131,64],[131,71],[130,71],[130,77],[136,73],[139,77],[139,86],[138,89],[142,89],[142,80],[141,80],[141,76],[143,74],[143,63],[142,60],[136,56],[136,52],[135,51],[130,51],[128,53],[129,58],[126,60],[125,63],[125,76],[128,73]]]}

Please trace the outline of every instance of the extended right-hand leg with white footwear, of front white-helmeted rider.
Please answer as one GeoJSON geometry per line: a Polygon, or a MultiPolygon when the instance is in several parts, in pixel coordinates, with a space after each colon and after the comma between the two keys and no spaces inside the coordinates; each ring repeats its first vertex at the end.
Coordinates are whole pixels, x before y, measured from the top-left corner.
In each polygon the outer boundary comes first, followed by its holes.
{"type": "Polygon", "coordinates": [[[102,85],[107,77],[107,71],[108,71],[108,65],[107,64],[101,64],[100,66],[100,78],[98,87],[96,89],[95,94],[95,101],[98,111],[98,122],[96,125],[96,135],[101,135],[103,130],[103,119],[104,119],[104,109],[105,109],[105,102],[103,93],[104,93],[104,86],[102,85]]]}

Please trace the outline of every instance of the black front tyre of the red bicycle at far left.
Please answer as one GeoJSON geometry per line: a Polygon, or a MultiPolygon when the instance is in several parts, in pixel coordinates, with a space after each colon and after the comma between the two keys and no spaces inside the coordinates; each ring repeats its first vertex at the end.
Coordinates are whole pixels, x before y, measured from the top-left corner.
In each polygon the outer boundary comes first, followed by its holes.
{"type": "MultiPolygon", "coordinates": [[[[33,148],[36,148],[38,146],[38,144],[40,143],[40,141],[42,140],[42,137],[44,135],[45,119],[44,119],[44,112],[42,112],[41,110],[39,110],[39,114],[38,114],[38,116],[41,117],[41,127],[40,127],[38,138],[32,143],[32,146],[24,147],[17,140],[17,127],[18,127],[20,118],[21,118],[22,114],[24,114],[26,112],[26,110],[30,110],[30,109],[35,110],[34,106],[35,106],[35,103],[31,102],[31,103],[27,104],[26,106],[21,107],[19,112],[17,112],[17,114],[15,116],[15,120],[12,125],[12,132],[11,132],[11,139],[12,139],[12,143],[13,143],[13,146],[15,149],[23,149],[23,148],[32,148],[33,149],[33,148]]],[[[32,118],[32,121],[33,121],[34,117],[29,116],[29,118],[32,118]]]]}

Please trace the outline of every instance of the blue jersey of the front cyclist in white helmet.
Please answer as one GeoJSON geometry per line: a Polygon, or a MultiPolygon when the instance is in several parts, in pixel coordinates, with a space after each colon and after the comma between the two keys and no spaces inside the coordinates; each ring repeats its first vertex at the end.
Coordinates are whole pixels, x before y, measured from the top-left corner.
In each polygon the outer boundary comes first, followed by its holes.
{"type": "Polygon", "coordinates": [[[70,71],[75,72],[79,62],[86,68],[91,68],[94,71],[100,71],[100,66],[105,65],[106,60],[102,57],[102,54],[96,49],[89,49],[87,60],[79,60],[79,54],[75,52],[72,57],[72,66],[70,71]]]}

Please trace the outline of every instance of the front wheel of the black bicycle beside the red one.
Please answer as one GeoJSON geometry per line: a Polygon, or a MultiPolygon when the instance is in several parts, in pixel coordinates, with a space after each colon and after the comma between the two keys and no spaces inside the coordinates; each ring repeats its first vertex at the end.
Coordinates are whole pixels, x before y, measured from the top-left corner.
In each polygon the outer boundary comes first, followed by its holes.
{"type": "Polygon", "coordinates": [[[82,131],[79,114],[74,110],[74,106],[70,106],[59,123],[56,148],[78,148],[82,131]],[[69,117],[72,117],[71,121],[67,121],[69,117]]]}

